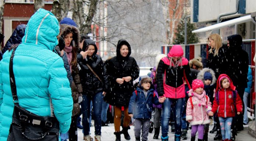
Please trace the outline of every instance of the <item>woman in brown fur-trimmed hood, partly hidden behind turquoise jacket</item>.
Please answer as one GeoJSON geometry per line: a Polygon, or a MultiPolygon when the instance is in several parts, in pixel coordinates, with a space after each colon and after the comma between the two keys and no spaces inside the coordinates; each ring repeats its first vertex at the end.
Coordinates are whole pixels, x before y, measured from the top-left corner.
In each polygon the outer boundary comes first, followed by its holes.
{"type": "Polygon", "coordinates": [[[71,117],[70,130],[68,131],[69,140],[77,141],[77,116],[80,113],[80,105],[82,102],[82,85],[79,78],[79,70],[77,66],[77,49],[79,47],[79,30],[75,26],[66,25],[61,29],[61,37],[65,42],[64,53],[67,55],[68,64],[70,66],[73,78],[71,91],[73,97],[73,111],[71,117]]]}

